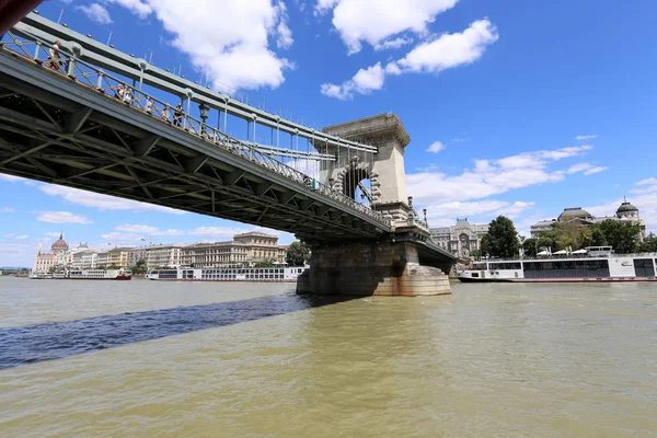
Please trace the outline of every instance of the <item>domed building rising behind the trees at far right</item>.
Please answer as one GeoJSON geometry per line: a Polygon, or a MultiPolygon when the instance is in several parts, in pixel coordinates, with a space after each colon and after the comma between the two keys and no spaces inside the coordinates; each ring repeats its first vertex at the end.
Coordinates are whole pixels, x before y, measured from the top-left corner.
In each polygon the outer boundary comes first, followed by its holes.
{"type": "Polygon", "coordinates": [[[614,216],[595,217],[581,207],[565,208],[564,211],[561,215],[558,215],[558,218],[541,220],[531,226],[530,233],[531,237],[535,239],[539,238],[543,231],[551,230],[555,223],[577,222],[586,227],[591,227],[595,223],[603,222],[606,220],[619,220],[636,224],[641,228],[638,241],[643,242],[646,238],[646,224],[641,218],[638,208],[633,206],[631,203],[627,203],[627,200],[624,200],[621,204],[621,206],[616,209],[614,216]]]}

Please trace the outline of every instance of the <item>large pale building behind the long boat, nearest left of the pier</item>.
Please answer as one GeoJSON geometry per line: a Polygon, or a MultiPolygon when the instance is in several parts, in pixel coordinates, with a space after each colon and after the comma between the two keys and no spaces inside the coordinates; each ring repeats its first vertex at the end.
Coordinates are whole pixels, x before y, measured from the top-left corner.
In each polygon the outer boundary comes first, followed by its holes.
{"type": "Polygon", "coordinates": [[[182,264],[193,267],[233,267],[260,261],[284,264],[287,250],[278,246],[276,235],[247,232],[230,242],[195,243],[185,246],[182,264]]]}

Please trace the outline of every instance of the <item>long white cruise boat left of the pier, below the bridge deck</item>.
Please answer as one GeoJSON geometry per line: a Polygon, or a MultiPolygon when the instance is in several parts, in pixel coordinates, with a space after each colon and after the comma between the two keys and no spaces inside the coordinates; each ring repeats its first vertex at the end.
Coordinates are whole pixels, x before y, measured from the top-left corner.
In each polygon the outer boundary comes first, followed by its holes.
{"type": "Polygon", "coordinates": [[[295,283],[306,267],[241,267],[154,269],[146,275],[151,280],[168,281],[284,281],[295,283]]]}

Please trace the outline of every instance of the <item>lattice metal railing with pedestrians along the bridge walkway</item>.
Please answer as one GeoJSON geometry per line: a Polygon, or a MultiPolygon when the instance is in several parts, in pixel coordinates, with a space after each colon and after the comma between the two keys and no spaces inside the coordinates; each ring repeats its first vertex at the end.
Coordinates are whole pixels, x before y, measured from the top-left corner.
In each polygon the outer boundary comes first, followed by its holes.
{"type": "Polygon", "coordinates": [[[76,56],[74,45],[72,48],[65,46],[56,47],[48,42],[41,41],[36,37],[28,38],[26,36],[20,36],[11,31],[5,35],[9,37],[9,41],[0,41],[0,48],[27,58],[44,68],[53,70],[54,73],[67,76],[76,82],[92,88],[101,94],[108,96],[108,99],[116,99],[123,102],[127,107],[135,111],[141,111],[160,119],[162,123],[183,129],[192,136],[257,163],[269,171],[307,186],[323,196],[330,197],[354,210],[360,211],[388,227],[392,227],[391,221],[380,212],[357,203],[350,197],[320,183],[315,178],[263,153],[253,146],[238,140],[214,126],[207,125],[203,119],[189,115],[188,112],[180,105],[174,107],[153,95],[145,93],[138,87],[134,87],[126,81],[107,73],[101,68],[79,59],[76,56]]]}

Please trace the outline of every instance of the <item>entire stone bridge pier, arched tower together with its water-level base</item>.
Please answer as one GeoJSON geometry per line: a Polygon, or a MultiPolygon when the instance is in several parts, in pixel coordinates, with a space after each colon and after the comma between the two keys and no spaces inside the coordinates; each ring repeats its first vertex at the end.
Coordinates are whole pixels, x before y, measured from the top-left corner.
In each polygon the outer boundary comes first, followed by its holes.
{"type": "Polygon", "coordinates": [[[413,210],[406,189],[404,149],[411,142],[396,115],[383,114],[324,129],[342,138],[374,145],[378,153],[345,153],[336,147],[315,145],[336,157],[323,162],[321,181],[355,197],[362,180],[370,181],[371,206],[388,217],[393,232],[372,241],[308,241],[310,269],[297,283],[298,293],[357,296],[449,295],[445,274],[454,263],[436,252],[429,230],[413,210]]]}

